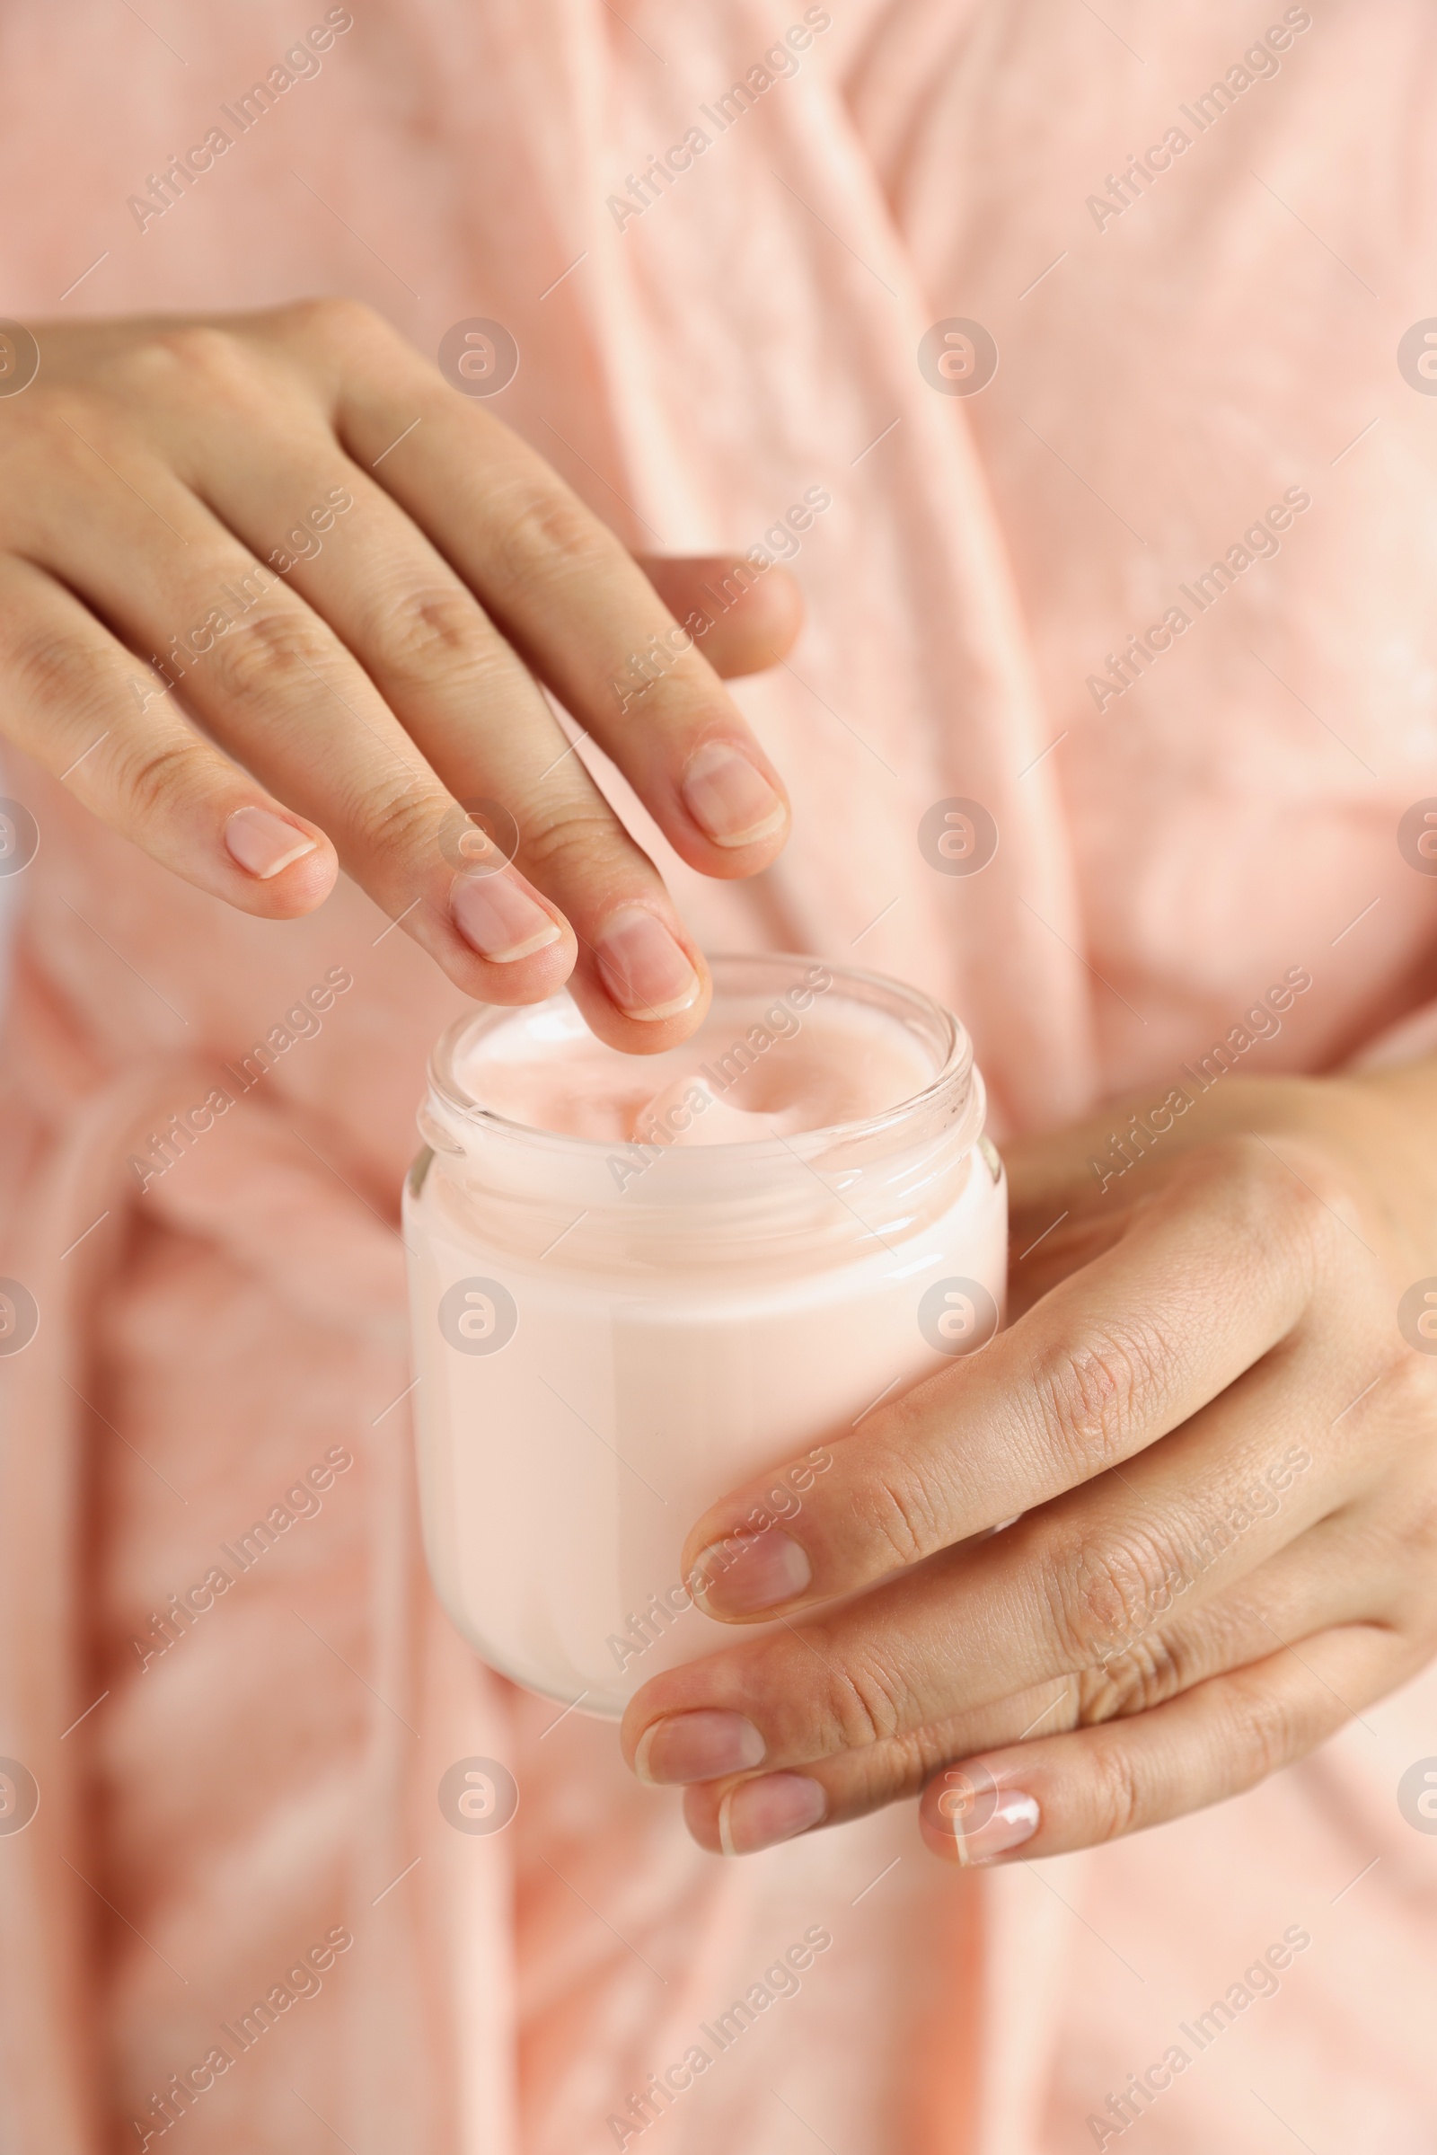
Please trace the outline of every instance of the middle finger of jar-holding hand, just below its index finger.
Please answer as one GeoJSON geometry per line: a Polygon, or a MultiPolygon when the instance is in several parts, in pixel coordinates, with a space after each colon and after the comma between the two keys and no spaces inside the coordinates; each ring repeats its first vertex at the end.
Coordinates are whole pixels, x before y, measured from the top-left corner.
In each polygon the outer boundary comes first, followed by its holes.
{"type": "Polygon", "coordinates": [[[1301,1442],[1308,1399],[1271,1355],[1122,1474],[655,1677],[625,1718],[636,1765],[683,1765],[692,1715],[752,1730],[771,1767],[810,1765],[1142,1655],[1172,1610],[1191,1616],[1351,1498],[1359,1465],[1301,1442]]]}

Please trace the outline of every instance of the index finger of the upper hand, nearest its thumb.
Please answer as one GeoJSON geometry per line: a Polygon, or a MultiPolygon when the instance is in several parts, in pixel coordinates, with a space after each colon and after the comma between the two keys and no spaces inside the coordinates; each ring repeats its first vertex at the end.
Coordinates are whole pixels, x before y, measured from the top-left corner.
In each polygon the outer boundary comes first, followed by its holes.
{"type": "Polygon", "coordinates": [[[614,534],[377,317],[338,304],[295,321],[306,366],[317,347],[330,358],[330,416],[353,461],[377,468],[679,856],[717,877],[767,866],[789,832],[782,780],[614,534]]]}

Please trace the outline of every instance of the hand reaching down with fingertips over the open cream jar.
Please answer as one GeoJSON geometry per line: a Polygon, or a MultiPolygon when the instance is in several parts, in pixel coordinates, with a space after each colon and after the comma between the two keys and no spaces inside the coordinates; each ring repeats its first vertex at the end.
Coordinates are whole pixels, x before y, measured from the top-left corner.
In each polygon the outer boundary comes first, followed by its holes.
{"type": "Polygon", "coordinates": [[[754,875],[786,802],[709,657],[773,664],[795,586],[722,608],[730,562],[644,575],[349,302],[37,338],[0,397],[4,737],[241,912],[310,912],[338,856],[468,996],[573,972],[616,1047],[687,1037],[702,957],[539,683],[689,866],[754,875]],[[709,657],[670,608],[713,618],[709,657]]]}

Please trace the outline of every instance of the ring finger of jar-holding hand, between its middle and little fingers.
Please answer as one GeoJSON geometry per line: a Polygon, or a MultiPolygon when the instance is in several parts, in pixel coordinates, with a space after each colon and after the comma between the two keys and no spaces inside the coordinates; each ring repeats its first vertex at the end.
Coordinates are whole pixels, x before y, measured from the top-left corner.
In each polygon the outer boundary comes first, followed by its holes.
{"type": "MultiPolygon", "coordinates": [[[[1411,1565],[1392,1565],[1377,1534],[1353,1532],[1347,1515],[1323,1521],[1230,1593],[1198,1608],[1174,1601],[1150,1631],[1077,1674],[814,1761],[801,1771],[765,1774],[767,1761],[758,1756],[761,1739],[754,1737],[752,1771],[685,1789],[689,1832],[704,1849],[743,1855],[765,1847],[769,1838],[786,1838],[784,1819],[817,1815],[825,1825],[840,1825],[866,1817],[918,1795],[948,1761],[1026,1743],[1034,1735],[1054,1737],[1069,1728],[1150,1713],[1213,1677],[1269,1659],[1273,1649],[1301,1657],[1299,1642],[1316,1631],[1403,1618],[1413,1629],[1409,1571],[1411,1565]],[[773,1786],[765,1786],[769,1780],[773,1786]],[[812,1793],[801,1793],[797,1782],[817,1784],[821,1804],[812,1793]]],[[[1422,1599],[1431,1603],[1433,1593],[1422,1599]]],[[[1340,1705],[1357,1711],[1351,1700],[1340,1705]]],[[[713,1713],[704,1718],[711,1756],[722,1741],[717,1722],[713,1713]]],[[[681,1761],[681,1748],[670,1746],[666,1761],[664,1746],[651,1741],[651,1778],[664,1778],[674,1756],[681,1761]]],[[[702,1758],[694,1763],[702,1765],[702,1758]]],[[[976,1823],[980,1821],[969,1819],[969,1827],[976,1823]]]]}

